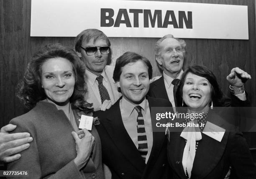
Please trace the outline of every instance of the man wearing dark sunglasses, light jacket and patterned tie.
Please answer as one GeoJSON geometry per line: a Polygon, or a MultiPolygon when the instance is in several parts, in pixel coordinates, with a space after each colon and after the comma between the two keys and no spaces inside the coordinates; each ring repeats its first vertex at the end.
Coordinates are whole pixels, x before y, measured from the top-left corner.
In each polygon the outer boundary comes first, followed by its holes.
{"type": "Polygon", "coordinates": [[[114,66],[107,66],[110,59],[110,45],[108,37],[97,29],[83,30],[75,39],[77,55],[87,68],[85,99],[93,103],[94,111],[110,108],[121,96],[113,81],[114,66]]]}

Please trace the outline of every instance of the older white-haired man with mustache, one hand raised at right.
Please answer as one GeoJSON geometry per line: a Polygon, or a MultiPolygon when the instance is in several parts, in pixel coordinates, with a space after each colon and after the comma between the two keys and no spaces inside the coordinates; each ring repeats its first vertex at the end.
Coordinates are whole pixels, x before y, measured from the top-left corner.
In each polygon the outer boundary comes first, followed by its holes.
{"type": "MultiPolygon", "coordinates": [[[[182,77],[182,67],[186,54],[186,43],[182,39],[168,34],[160,38],[155,44],[155,60],[163,75],[150,84],[148,95],[155,98],[169,99],[172,106],[182,106],[182,98],[176,96],[177,86],[182,77]]],[[[251,76],[240,68],[233,68],[227,76],[230,84],[231,98],[235,103],[226,99],[225,106],[248,106],[243,84],[251,76]]]]}

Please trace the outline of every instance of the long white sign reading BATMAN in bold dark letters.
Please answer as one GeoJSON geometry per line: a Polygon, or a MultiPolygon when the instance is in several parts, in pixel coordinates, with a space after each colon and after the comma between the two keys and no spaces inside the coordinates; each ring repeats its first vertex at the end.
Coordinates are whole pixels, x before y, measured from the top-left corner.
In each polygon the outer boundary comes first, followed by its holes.
{"type": "Polygon", "coordinates": [[[247,6],[136,0],[32,0],[31,36],[248,39],[247,6]]]}

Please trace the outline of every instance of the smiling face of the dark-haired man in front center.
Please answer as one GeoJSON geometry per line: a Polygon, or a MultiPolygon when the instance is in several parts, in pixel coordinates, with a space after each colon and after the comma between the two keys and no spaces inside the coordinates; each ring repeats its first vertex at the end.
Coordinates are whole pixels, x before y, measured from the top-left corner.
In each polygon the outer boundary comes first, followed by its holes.
{"type": "Polygon", "coordinates": [[[137,105],[141,103],[149,90],[148,68],[141,61],[128,63],[121,68],[120,79],[117,82],[123,97],[137,105]]]}

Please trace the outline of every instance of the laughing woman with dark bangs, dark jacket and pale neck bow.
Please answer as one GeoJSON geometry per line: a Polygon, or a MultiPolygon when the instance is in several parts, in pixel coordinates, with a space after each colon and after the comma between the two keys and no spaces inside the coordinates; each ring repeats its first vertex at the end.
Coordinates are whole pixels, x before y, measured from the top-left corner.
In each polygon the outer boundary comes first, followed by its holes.
{"type": "MultiPolygon", "coordinates": [[[[202,66],[184,71],[178,93],[190,117],[182,132],[169,135],[167,154],[174,179],[254,179],[255,166],[246,140],[218,116],[212,106],[224,106],[214,74],[202,66]]],[[[179,110],[179,109],[177,109],[179,110]]],[[[184,112],[184,108],[180,111],[184,112]]]]}

